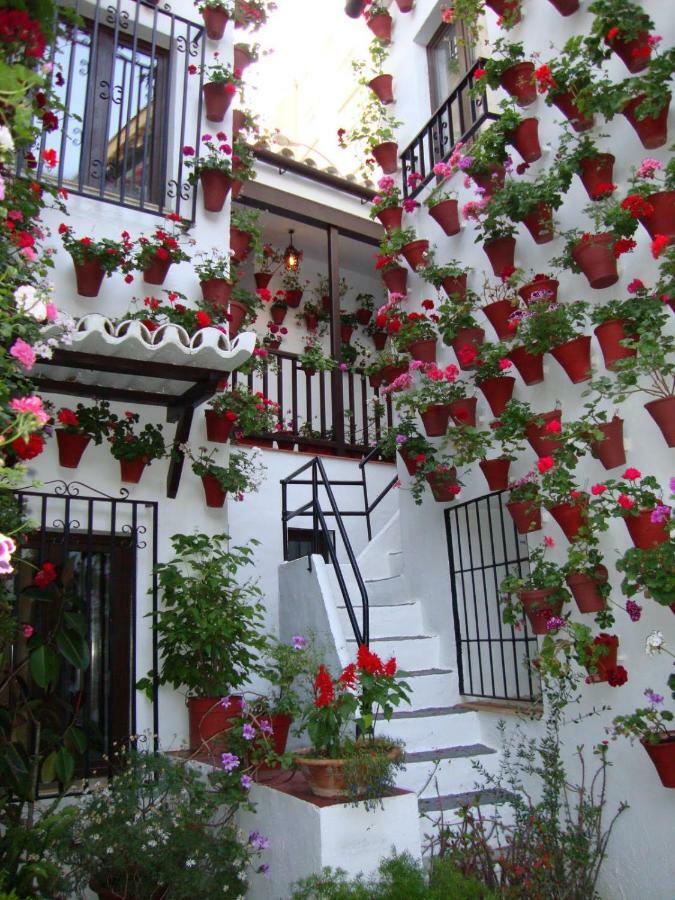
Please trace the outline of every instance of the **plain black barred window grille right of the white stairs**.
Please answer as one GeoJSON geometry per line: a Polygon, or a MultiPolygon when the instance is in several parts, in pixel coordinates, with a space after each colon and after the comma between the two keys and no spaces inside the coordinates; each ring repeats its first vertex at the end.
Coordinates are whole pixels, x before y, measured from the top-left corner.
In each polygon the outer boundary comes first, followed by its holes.
{"type": "Polygon", "coordinates": [[[445,511],[459,690],[471,697],[532,701],[539,680],[530,661],[537,639],[525,619],[502,622],[499,585],[509,573],[527,573],[527,538],[519,535],[504,492],[445,511]]]}

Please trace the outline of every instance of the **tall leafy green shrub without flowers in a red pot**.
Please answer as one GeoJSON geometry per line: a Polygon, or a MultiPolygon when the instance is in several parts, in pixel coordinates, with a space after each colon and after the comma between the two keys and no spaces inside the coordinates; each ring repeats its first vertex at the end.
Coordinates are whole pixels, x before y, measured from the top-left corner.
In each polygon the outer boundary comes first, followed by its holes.
{"type": "Polygon", "coordinates": [[[253,564],[257,541],[251,544],[230,547],[226,534],[174,534],[171,561],[157,566],[162,603],[152,627],[160,663],[139,686],[156,679],[186,691],[192,750],[223,748],[218,736],[241,711],[231,694],[258,670],[266,647],[262,592],[239,575],[253,564]]]}

